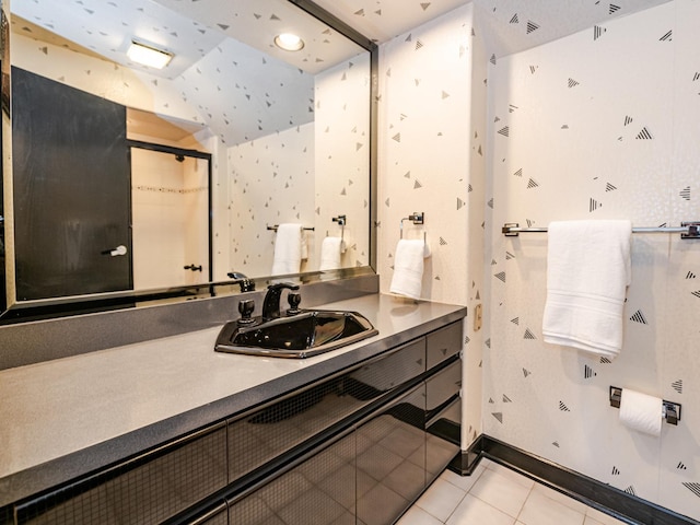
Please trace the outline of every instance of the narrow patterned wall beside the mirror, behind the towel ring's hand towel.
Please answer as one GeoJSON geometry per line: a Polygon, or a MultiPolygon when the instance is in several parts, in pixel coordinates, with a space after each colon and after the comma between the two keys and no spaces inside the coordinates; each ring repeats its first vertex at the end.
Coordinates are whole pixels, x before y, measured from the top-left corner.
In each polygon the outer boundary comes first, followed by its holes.
{"type": "MultiPolygon", "coordinates": [[[[402,218],[424,212],[432,256],[424,300],[469,307],[464,324],[463,447],[481,433],[486,58],[470,4],[380,48],[378,272],[387,293],[402,218]],[[472,109],[474,108],[474,109],[472,109]]],[[[406,238],[422,235],[405,222],[406,238]]],[[[396,300],[397,308],[406,300],[396,300]]],[[[410,304],[410,301],[408,301],[410,304]]]]}

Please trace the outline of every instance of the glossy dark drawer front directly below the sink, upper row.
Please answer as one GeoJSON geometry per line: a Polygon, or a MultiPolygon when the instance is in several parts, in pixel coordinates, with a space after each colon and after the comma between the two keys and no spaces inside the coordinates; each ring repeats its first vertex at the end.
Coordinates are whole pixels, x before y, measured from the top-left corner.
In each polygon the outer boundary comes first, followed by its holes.
{"type": "Polygon", "coordinates": [[[229,422],[229,471],[240,478],[425,370],[425,340],[229,422]]]}

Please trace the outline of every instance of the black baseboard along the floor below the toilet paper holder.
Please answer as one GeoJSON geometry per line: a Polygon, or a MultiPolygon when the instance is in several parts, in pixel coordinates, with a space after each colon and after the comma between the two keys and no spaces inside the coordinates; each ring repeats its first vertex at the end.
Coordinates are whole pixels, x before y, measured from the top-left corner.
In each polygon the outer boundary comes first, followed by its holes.
{"type": "Polygon", "coordinates": [[[486,457],[630,525],[700,525],[690,517],[642,500],[580,472],[481,434],[452,460],[450,469],[470,476],[486,457]]]}

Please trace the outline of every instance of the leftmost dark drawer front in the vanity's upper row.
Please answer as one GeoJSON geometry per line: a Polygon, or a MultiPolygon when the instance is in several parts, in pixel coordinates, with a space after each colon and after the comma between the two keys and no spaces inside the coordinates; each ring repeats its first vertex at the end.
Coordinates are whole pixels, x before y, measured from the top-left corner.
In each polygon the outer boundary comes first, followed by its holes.
{"type": "Polygon", "coordinates": [[[147,524],[226,485],[225,428],[205,431],[18,506],[18,524],[147,524]]]}

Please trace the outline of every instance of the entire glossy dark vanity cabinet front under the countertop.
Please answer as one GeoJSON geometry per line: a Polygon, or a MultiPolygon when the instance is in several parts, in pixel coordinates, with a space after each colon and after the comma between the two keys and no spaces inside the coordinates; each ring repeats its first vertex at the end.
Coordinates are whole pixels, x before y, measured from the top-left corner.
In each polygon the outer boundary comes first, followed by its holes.
{"type": "Polygon", "coordinates": [[[383,525],[459,451],[462,322],[14,506],[16,524],[383,525]]]}

